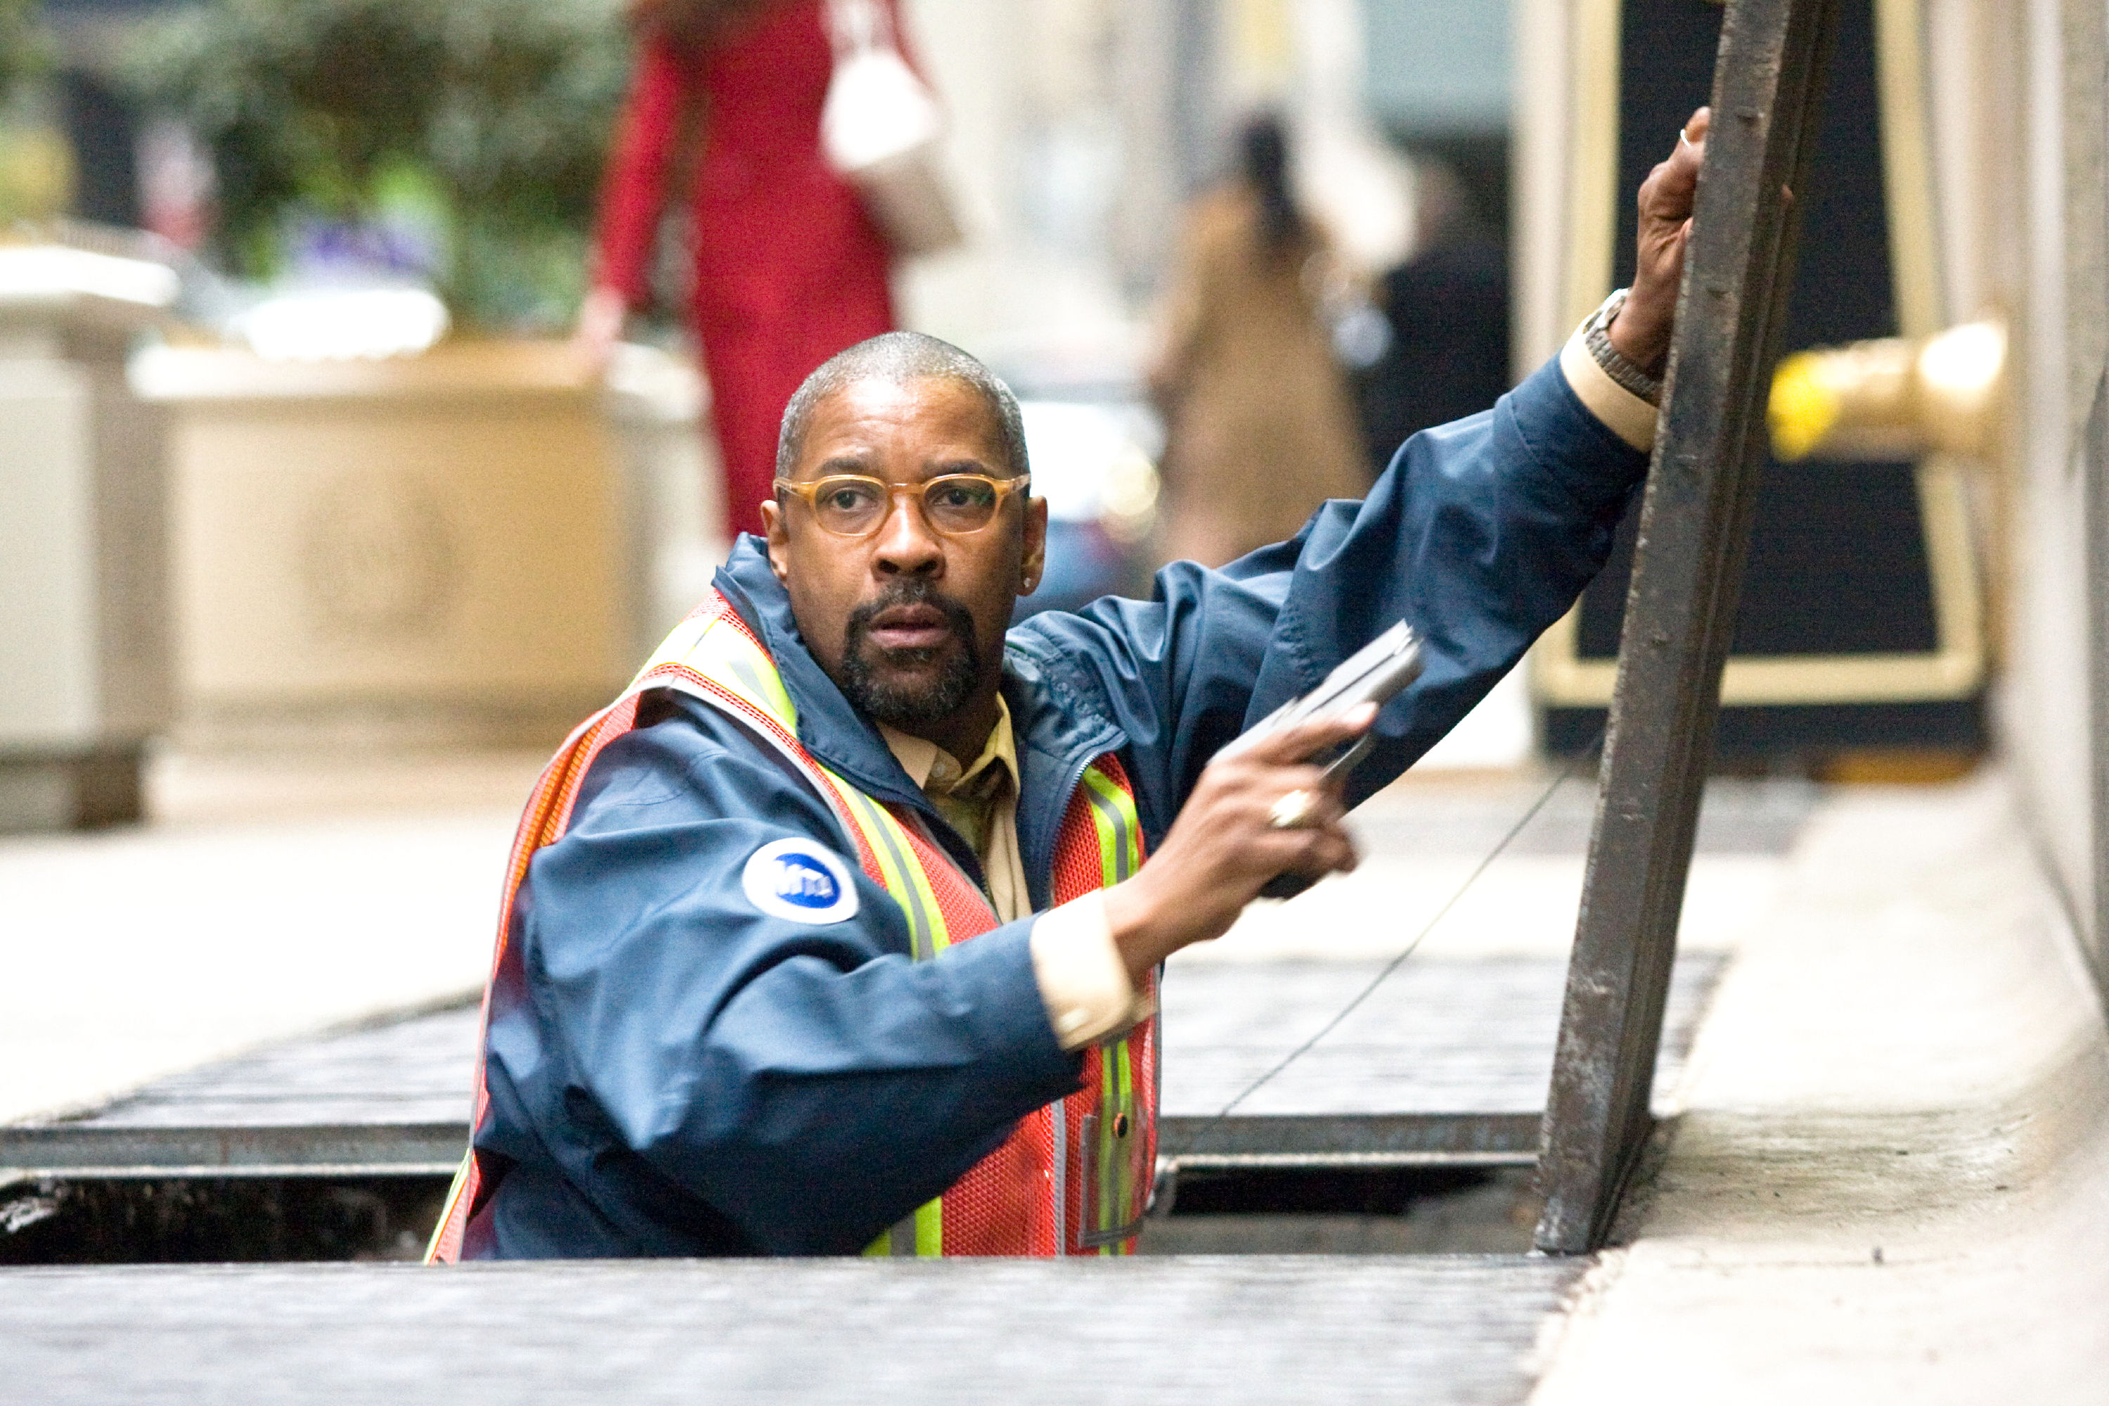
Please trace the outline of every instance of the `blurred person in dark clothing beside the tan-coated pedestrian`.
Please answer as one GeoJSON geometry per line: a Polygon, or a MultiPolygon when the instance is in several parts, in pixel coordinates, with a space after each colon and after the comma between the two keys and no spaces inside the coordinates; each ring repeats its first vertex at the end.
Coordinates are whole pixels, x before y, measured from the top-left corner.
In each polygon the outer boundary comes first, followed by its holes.
{"type": "Polygon", "coordinates": [[[1476,219],[1457,175],[1417,162],[1413,257],[1377,287],[1390,346],[1354,377],[1375,476],[1392,453],[1508,390],[1508,251],[1476,219]]]}

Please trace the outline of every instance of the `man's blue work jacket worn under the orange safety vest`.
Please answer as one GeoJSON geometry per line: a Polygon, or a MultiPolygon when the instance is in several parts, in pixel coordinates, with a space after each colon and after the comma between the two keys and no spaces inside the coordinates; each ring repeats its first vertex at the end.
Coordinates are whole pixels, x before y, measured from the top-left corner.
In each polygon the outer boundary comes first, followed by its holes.
{"type": "MultiPolygon", "coordinates": [[[[1377,719],[1350,801],[1396,778],[1603,567],[1645,468],[1550,363],[1491,411],[1415,434],[1365,502],[1324,504],[1291,542],[1221,571],[1173,563],[1149,601],[1012,628],[1033,906],[1088,761],[1120,755],[1154,850],[1219,746],[1409,620],[1426,670],[1377,719]]],[[[755,538],[717,588],[776,658],[806,748],[922,812],[979,879],[806,651],[755,538]]],[[[512,909],[475,1130],[502,1178],[464,1258],[856,1252],[1073,1092],[1031,919],[911,961],[901,909],[770,746],[685,696],[647,696],[639,721],[593,763],[512,909]],[[787,837],[848,858],[854,915],[810,923],[749,898],[742,866],[787,837]]]]}

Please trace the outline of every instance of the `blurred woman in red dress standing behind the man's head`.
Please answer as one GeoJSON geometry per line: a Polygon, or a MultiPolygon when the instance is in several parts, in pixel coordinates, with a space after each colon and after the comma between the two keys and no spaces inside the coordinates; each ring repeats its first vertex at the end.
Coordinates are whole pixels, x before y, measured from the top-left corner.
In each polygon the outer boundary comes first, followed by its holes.
{"type": "MultiPolygon", "coordinates": [[[[882,4],[898,36],[896,0],[882,4]]],[[[728,535],[759,533],[785,405],[823,360],[894,329],[892,259],[820,150],[827,0],[633,0],[631,19],[637,76],[610,150],[580,339],[605,354],[645,301],[660,213],[685,188],[728,535]]]]}

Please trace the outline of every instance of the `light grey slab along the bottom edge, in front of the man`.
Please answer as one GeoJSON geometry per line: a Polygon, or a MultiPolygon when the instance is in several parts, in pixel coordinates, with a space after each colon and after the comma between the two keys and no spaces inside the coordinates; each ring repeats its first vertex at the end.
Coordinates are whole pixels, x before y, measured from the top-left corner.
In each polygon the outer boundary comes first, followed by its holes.
{"type": "Polygon", "coordinates": [[[0,1271],[6,1400],[1521,1402],[1535,1256],[0,1271]]]}

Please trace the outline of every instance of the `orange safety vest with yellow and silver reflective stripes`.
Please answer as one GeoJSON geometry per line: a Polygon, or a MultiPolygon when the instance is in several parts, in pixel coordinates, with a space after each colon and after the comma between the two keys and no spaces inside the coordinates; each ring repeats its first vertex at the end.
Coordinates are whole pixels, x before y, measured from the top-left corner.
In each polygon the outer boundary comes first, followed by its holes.
{"type": "MultiPolygon", "coordinates": [[[[793,761],[856,841],[856,858],[886,887],[909,925],[915,961],[998,925],[983,892],[953,864],[922,816],[875,801],[820,765],[797,740],[797,710],[776,662],[747,622],[717,592],[683,620],[622,696],[578,725],[536,784],[512,839],[504,904],[498,915],[498,965],[506,957],[512,900],[536,850],[563,837],[586,769],[601,748],[631,731],[647,689],[673,689],[732,712],[793,761]]],[[[1143,862],[1135,790],[1107,753],[1069,797],[1054,839],[1054,902],[1120,883],[1143,862]]],[[[1149,978],[1149,997],[1156,978],[1149,978]]],[[[1152,1001],[1154,1005],[1154,1001],[1152,1001]]],[[[483,1020],[489,1022],[489,987],[483,1020]]],[[[483,1121],[489,1092],[477,1052],[470,1128],[483,1121]]],[[[1141,1229],[1158,1149],[1158,1020],[1084,1052],[1076,1094],[1038,1109],[1010,1138],[968,1168],[949,1191],[920,1206],[865,1254],[1126,1254],[1141,1229]]],[[[447,1193],[426,1263],[453,1263],[468,1216],[496,1189],[475,1147],[447,1193]]]]}

